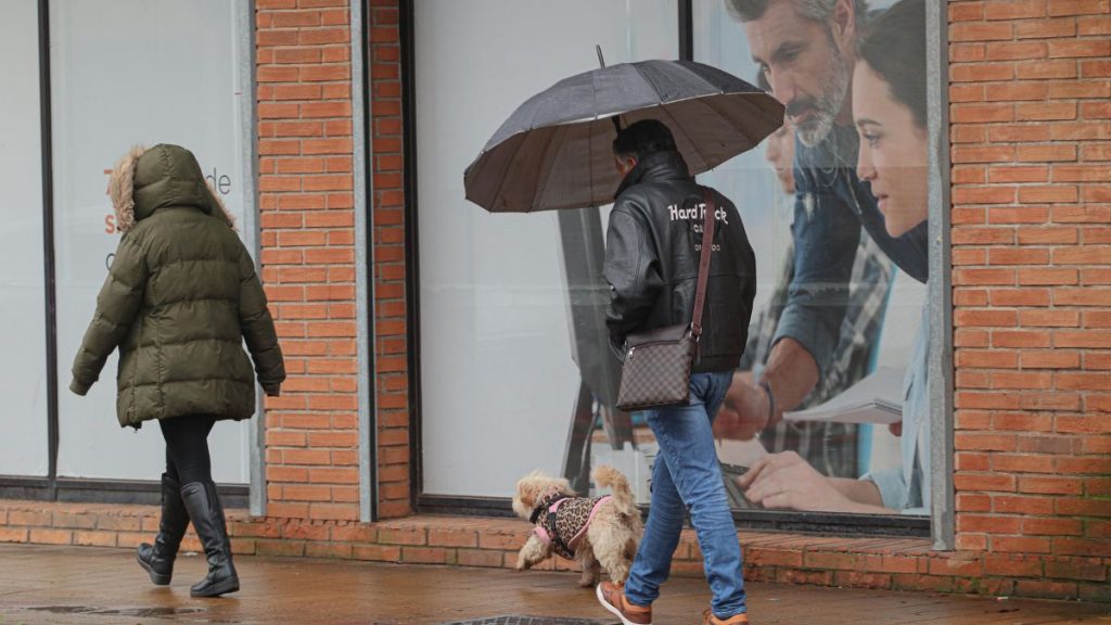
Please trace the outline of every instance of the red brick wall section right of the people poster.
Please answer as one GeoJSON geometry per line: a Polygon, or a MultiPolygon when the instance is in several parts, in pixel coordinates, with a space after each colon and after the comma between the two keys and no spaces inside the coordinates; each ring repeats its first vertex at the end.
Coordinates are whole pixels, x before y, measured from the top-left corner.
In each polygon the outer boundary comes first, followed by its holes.
{"type": "Polygon", "coordinates": [[[1105,586],[1111,0],[949,14],[957,546],[1032,556],[1001,572],[1062,593],[1105,586]]]}

